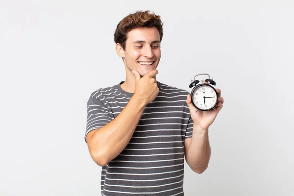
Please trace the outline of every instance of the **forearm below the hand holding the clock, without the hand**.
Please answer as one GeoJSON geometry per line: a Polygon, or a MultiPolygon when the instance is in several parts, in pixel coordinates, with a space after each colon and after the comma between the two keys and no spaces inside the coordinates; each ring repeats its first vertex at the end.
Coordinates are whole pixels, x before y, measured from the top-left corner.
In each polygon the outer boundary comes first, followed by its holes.
{"type": "Polygon", "coordinates": [[[186,161],[190,168],[195,172],[203,172],[208,166],[211,155],[208,129],[202,129],[194,123],[192,140],[186,151],[186,161]]]}

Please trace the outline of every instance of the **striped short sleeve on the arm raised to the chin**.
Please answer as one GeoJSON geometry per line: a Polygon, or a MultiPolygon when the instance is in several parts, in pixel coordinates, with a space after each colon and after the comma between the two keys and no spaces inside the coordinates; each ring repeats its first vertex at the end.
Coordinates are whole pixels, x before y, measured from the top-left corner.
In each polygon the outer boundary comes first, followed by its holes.
{"type": "Polygon", "coordinates": [[[104,105],[104,103],[97,98],[89,98],[87,102],[87,125],[85,141],[87,134],[90,131],[94,129],[99,129],[111,121],[112,118],[109,114],[107,106],[104,105]]]}

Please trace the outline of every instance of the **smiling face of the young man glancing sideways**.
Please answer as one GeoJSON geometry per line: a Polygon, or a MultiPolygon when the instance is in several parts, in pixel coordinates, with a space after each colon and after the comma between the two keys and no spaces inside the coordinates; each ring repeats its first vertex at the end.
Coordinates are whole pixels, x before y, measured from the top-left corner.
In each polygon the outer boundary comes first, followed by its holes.
{"type": "Polygon", "coordinates": [[[159,40],[156,27],[139,27],[128,32],[124,50],[126,71],[135,70],[143,77],[155,70],[161,57],[159,40]]]}

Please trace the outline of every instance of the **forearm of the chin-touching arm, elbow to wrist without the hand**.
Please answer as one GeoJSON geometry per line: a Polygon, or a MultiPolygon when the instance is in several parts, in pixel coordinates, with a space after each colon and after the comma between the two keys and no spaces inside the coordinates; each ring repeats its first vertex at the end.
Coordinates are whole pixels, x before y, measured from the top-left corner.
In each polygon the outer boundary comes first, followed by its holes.
{"type": "Polygon", "coordinates": [[[144,108],[145,104],[133,96],[113,121],[94,130],[87,143],[90,154],[98,165],[106,165],[123,151],[138,125],[144,108]]]}

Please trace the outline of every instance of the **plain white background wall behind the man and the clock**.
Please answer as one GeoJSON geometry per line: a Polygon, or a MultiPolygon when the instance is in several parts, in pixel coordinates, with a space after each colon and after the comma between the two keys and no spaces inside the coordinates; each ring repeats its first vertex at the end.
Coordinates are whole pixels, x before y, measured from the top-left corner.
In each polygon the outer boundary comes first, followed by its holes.
{"type": "Polygon", "coordinates": [[[137,10],[164,23],[157,80],[209,73],[224,98],[185,196],[294,195],[293,0],[0,0],[0,195],[100,195],[86,103],[125,79],[113,34],[137,10]]]}

